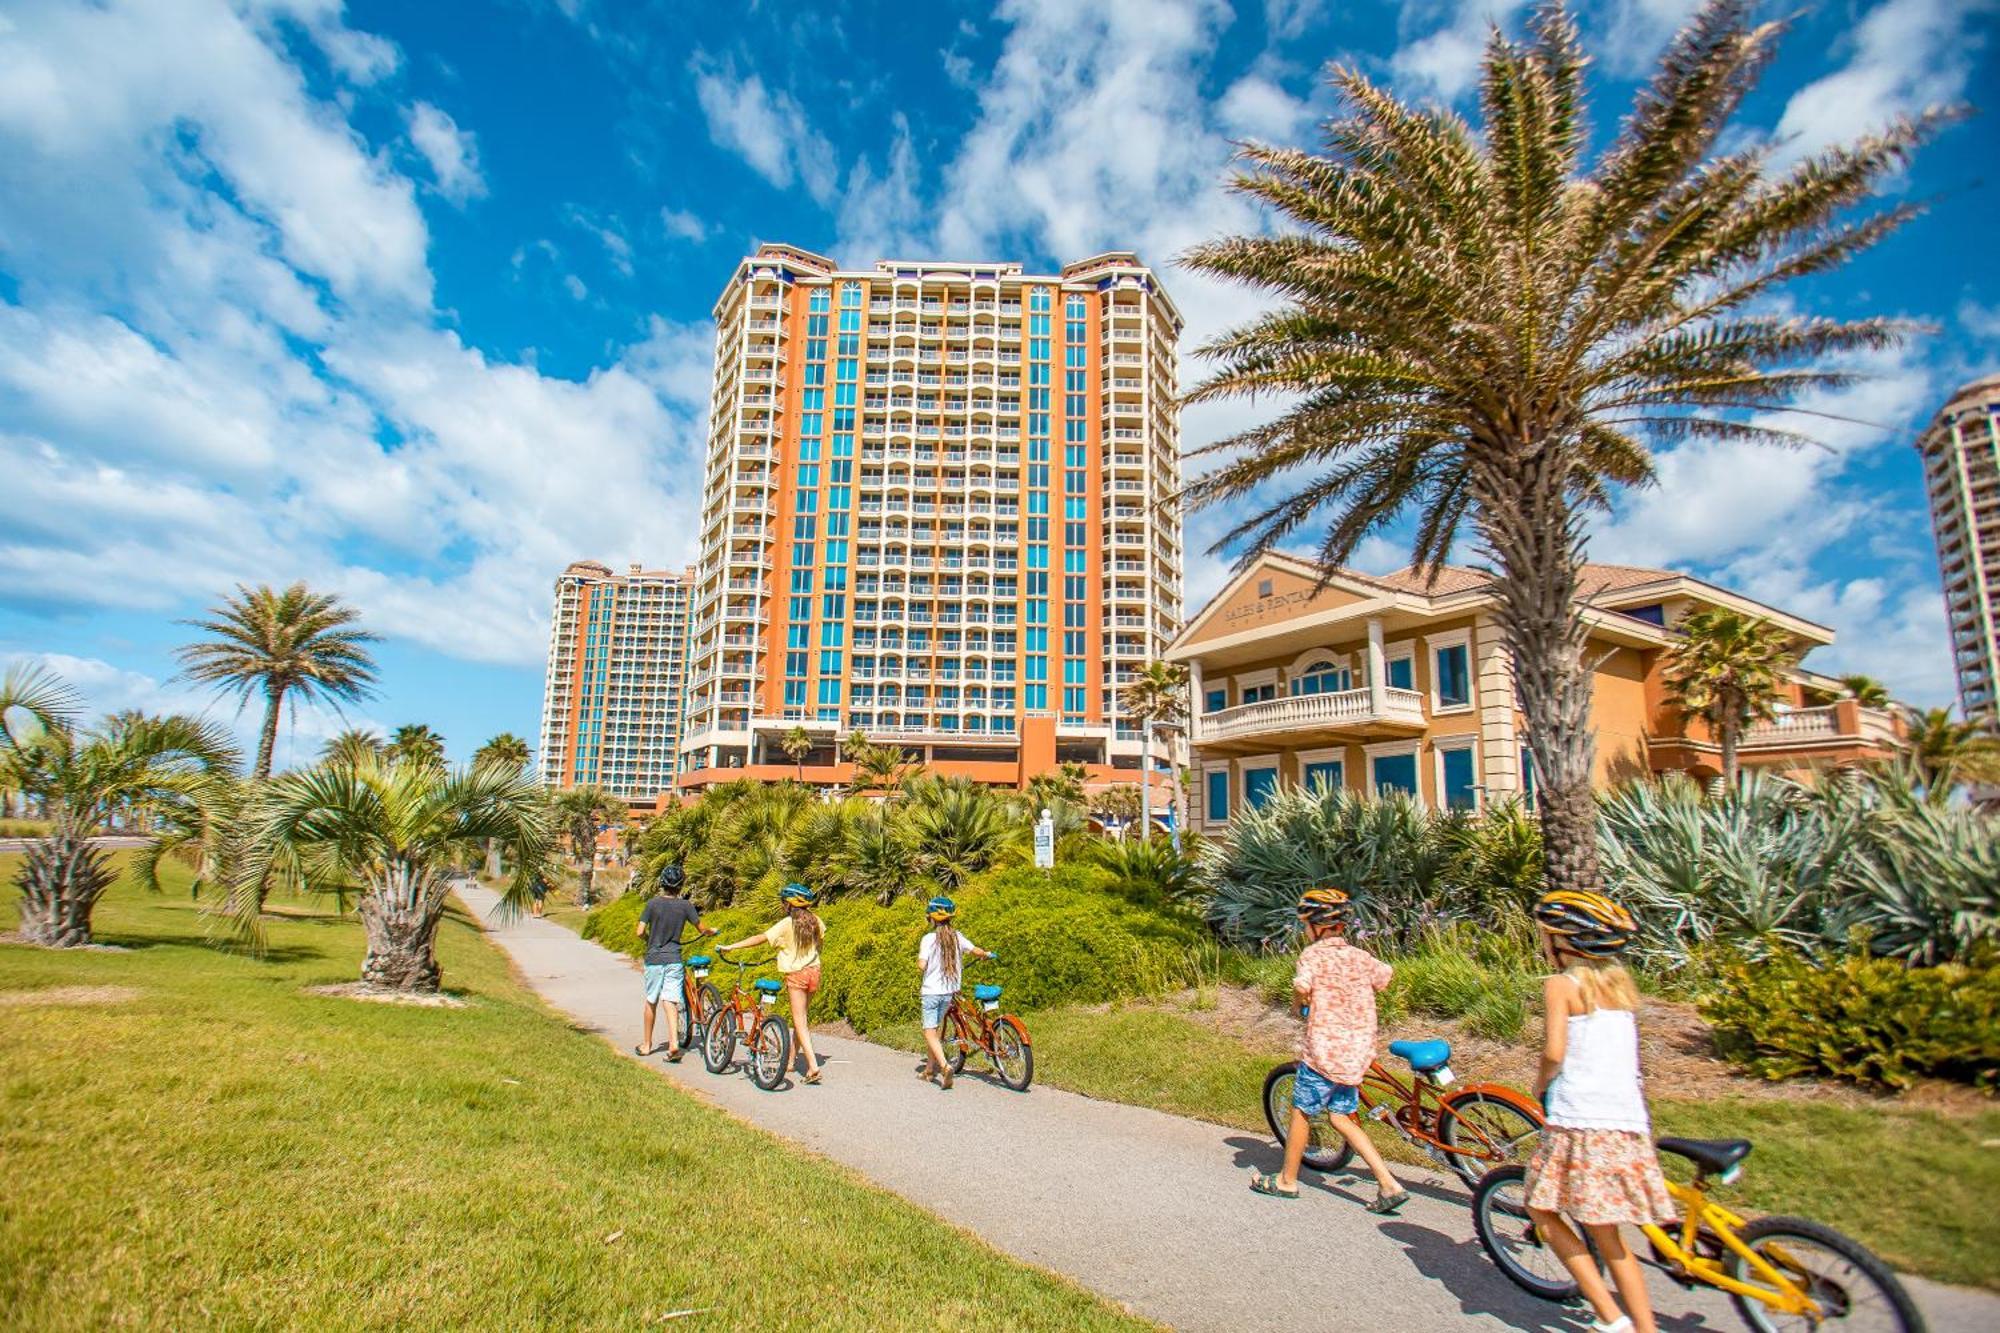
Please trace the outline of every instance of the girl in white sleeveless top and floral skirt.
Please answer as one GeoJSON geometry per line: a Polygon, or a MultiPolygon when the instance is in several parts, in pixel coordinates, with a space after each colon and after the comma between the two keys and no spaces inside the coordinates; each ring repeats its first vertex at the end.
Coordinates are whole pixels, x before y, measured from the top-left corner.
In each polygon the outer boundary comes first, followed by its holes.
{"type": "Polygon", "coordinates": [[[1548,1123],[1528,1161],[1528,1217],[1584,1289],[1596,1333],[1654,1333],[1646,1273],[1618,1231],[1676,1217],[1640,1087],[1638,987],[1618,963],[1638,921],[1602,893],[1572,889],[1544,893],[1534,919],[1542,957],[1558,971],[1542,983],[1546,1029],[1534,1095],[1548,1123]],[[1624,1311],[1566,1217],[1590,1233],[1624,1311]]]}

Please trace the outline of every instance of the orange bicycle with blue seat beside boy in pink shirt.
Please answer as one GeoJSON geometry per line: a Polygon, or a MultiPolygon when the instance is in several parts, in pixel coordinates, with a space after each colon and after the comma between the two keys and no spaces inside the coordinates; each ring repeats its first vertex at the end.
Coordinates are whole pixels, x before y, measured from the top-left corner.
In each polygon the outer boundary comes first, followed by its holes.
{"type": "MultiPolygon", "coordinates": [[[[1382,1061],[1368,1065],[1362,1079],[1360,1117],[1382,1121],[1406,1143],[1422,1149],[1438,1165],[1450,1167],[1466,1189],[1494,1167],[1526,1163],[1542,1137],[1542,1109],[1524,1093],[1500,1083],[1468,1083],[1456,1093],[1452,1085],[1452,1043],[1392,1041],[1390,1055],[1410,1067],[1410,1079],[1396,1077],[1382,1061]]],[[[1286,1061],[1264,1079],[1264,1119],[1284,1143],[1292,1123],[1292,1083],[1298,1061],[1286,1061]]],[[[1314,1171],[1340,1171],[1354,1149],[1332,1125],[1314,1117],[1312,1141],[1304,1165],[1314,1171]]]]}

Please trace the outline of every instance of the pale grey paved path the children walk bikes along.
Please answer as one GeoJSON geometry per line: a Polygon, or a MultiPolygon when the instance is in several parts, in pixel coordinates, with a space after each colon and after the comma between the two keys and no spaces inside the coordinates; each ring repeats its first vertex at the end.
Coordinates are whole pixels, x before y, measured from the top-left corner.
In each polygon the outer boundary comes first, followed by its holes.
{"type": "MultiPolygon", "coordinates": [[[[630,1053],[638,1041],[636,965],[550,921],[488,919],[494,895],[460,897],[528,983],[580,1027],[630,1053]]],[[[914,965],[912,965],[914,987],[914,965]]],[[[712,1077],[692,1055],[646,1063],[774,1135],[854,1167],[1002,1251],[1066,1273],[1178,1329],[1584,1329],[1528,1299],[1480,1251],[1464,1191],[1412,1179],[1400,1217],[1370,1217],[1366,1179],[1306,1173],[1298,1203],[1250,1193],[1274,1169],[1262,1137],[1052,1087],[1026,1095],[966,1077],[950,1093],[918,1083],[914,1057],[866,1041],[814,1037],[826,1081],[760,1093],[746,1075],[712,1077]],[[950,1159],[956,1169],[940,1169],[950,1159]]],[[[974,1061],[978,1063],[978,1061],[974,1061]]],[[[1244,1089],[1254,1099],[1258,1089],[1244,1089]]],[[[1756,1169],[1752,1159],[1750,1169],[1756,1169]]],[[[1922,1283],[1934,1331],[2000,1329],[2000,1297],[1922,1283]]],[[[1740,1329],[1728,1301],[1654,1275],[1660,1327],[1740,1329]]],[[[994,1311],[994,1327],[1004,1327],[994,1311]]]]}

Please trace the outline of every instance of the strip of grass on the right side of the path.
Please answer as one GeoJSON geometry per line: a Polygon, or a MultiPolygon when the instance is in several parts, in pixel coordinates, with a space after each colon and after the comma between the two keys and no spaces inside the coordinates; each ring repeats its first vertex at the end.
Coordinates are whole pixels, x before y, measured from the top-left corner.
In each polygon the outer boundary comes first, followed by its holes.
{"type": "MultiPolygon", "coordinates": [[[[1268,1133],[1264,1075],[1296,1051],[1260,1047],[1206,1011],[1168,1005],[1044,1009],[1022,1017],[1034,1077],[1086,1097],[1268,1133]]],[[[870,1033],[918,1049],[914,1025],[870,1033]]],[[[1756,1141],[1722,1195],[1864,1241],[1902,1269],[2000,1289],[2000,1109],[1972,1117],[1804,1101],[1654,1101],[1662,1135],[1756,1141]]],[[[1370,1127],[1392,1161],[1424,1161],[1370,1127]]]]}

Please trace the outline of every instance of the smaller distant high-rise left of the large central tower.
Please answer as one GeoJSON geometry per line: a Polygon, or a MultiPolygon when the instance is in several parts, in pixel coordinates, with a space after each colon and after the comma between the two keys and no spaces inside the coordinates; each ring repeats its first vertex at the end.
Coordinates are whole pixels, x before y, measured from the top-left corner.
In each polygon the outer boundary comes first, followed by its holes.
{"type": "Polygon", "coordinates": [[[674,789],[688,588],[632,564],[576,560],[556,578],[542,687],[542,783],[652,805],[674,789]]]}

